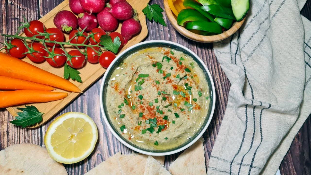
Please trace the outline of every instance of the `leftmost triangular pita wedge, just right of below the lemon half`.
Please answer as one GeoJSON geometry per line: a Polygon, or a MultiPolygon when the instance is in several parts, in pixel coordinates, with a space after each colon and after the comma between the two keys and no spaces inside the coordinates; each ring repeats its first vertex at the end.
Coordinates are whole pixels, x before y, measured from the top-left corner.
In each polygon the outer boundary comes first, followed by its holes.
{"type": "Polygon", "coordinates": [[[118,164],[118,156],[121,156],[121,152],[114,154],[104,162],[98,164],[85,175],[121,175],[118,164]]]}

